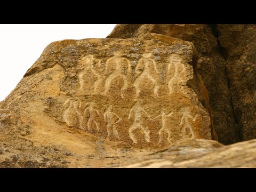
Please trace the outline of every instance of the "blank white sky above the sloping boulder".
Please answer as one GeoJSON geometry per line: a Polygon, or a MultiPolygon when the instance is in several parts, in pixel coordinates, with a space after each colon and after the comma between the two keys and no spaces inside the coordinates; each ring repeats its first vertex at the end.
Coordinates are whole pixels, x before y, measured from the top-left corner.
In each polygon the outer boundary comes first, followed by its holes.
{"type": "Polygon", "coordinates": [[[44,48],[63,39],[105,38],[116,24],[0,24],[0,101],[44,48]]]}

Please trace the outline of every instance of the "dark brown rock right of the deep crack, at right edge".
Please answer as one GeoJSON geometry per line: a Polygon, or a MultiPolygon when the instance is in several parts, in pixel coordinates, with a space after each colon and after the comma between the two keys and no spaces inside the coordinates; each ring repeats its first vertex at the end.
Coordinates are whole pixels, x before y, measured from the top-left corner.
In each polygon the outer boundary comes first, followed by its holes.
{"type": "Polygon", "coordinates": [[[242,140],[256,138],[256,25],[218,25],[242,140]]]}

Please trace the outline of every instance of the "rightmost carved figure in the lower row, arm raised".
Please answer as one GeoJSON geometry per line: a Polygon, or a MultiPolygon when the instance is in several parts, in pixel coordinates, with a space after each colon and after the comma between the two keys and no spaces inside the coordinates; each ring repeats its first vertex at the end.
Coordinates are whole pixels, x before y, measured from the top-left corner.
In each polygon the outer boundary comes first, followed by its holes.
{"type": "Polygon", "coordinates": [[[192,119],[192,121],[194,122],[194,121],[196,121],[196,118],[198,117],[198,115],[195,115],[195,117],[191,116],[190,110],[188,107],[181,108],[181,111],[182,111],[182,117],[180,120],[181,133],[182,133],[182,135],[186,135],[186,129],[188,128],[190,131],[190,134],[191,134],[190,139],[194,139],[195,134],[193,131],[193,127],[191,127],[191,125],[190,125],[189,119],[192,119]]]}

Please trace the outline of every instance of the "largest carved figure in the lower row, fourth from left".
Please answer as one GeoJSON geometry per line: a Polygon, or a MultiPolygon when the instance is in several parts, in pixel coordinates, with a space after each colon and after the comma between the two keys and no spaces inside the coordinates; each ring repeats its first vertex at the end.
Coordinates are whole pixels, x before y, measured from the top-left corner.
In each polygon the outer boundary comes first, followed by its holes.
{"type": "Polygon", "coordinates": [[[145,140],[147,142],[150,141],[149,128],[143,125],[143,123],[145,123],[145,119],[142,117],[143,117],[143,114],[145,114],[149,119],[151,118],[147,114],[147,112],[141,107],[141,104],[142,104],[141,100],[138,100],[137,102],[135,102],[135,104],[130,109],[129,117],[128,117],[128,119],[130,119],[132,113],[134,114],[133,124],[129,127],[129,135],[134,143],[137,143],[137,139],[134,137],[133,131],[137,129],[141,129],[144,132],[145,140]]]}

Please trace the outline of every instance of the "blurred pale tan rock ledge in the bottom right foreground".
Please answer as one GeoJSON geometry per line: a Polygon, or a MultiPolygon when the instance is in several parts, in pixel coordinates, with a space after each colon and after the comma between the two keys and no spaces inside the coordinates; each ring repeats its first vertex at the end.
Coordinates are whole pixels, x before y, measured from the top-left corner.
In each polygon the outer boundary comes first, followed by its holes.
{"type": "Polygon", "coordinates": [[[255,147],[255,139],[229,146],[217,141],[186,139],[117,167],[256,167],[255,147]]]}

